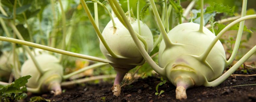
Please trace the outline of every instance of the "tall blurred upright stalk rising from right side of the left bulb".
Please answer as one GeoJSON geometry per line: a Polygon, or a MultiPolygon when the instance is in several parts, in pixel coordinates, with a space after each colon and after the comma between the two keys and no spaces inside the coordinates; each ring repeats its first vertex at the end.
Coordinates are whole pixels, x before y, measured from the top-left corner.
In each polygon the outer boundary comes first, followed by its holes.
{"type": "MultiPolygon", "coordinates": [[[[64,12],[61,0],[59,0],[59,3],[60,3],[60,7],[61,7],[62,25],[63,25],[61,49],[66,50],[66,16],[65,16],[65,12],[64,12]]],[[[63,55],[61,54],[60,55],[60,62],[62,62],[62,61],[63,61],[63,55]]]]}

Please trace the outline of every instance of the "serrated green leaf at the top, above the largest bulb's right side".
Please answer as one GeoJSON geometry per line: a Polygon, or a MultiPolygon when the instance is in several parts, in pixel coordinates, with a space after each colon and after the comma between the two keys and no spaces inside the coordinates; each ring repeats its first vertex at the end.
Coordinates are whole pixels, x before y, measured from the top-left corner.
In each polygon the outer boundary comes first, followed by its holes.
{"type": "Polygon", "coordinates": [[[234,10],[235,10],[235,7],[231,8],[229,6],[224,6],[223,4],[220,4],[220,3],[214,3],[213,5],[208,6],[206,8],[205,13],[216,12],[216,13],[227,13],[229,15],[234,15],[234,10]]]}

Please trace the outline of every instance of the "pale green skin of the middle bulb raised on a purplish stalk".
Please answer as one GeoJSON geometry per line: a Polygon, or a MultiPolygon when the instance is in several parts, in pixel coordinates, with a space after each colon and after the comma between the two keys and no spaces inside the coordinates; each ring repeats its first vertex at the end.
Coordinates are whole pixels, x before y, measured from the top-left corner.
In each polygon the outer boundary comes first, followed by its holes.
{"type": "MultiPolygon", "coordinates": [[[[136,67],[135,65],[129,64],[137,64],[143,60],[143,56],[140,54],[139,49],[134,43],[129,31],[123,26],[123,24],[118,20],[118,18],[114,18],[114,22],[116,24],[116,32],[114,32],[113,23],[108,22],[107,26],[104,28],[102,35],[106,40],[108,46],[113,50],[113,52],[117,55],[127,57],[126,58],[113,58],[107,51],[107,49],[103,46],[100,41],[100,49],[101,52],[105,55],[105,57],[112,61],[111,65],[116,70],[121,71],[129,71],[130,69],[136,67]]],[[[135,32],[139,32],[138,29],[138,21],[132,20],[131,25],[135,32]]],[[[148,44],[148,53],[151,52],[153,48],[153,36],[146,24],[140,21],[141,26],[141,36],[145,39],[148,44]]],[[[143,43],[141,42],[143,45],[143,43]]],[[[143,45],[144,46],[144,45],[143,45]]],[[[143,64],[143,63],[142,63],[143,64]]]]}

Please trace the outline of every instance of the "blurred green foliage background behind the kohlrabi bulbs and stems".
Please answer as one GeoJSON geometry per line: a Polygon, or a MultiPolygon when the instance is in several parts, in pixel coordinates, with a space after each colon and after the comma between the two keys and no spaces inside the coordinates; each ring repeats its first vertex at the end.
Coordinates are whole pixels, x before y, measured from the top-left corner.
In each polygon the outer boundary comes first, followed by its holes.
{"type": "MultiPolygon", "coordinates": [[[[8,24],[9,22],[12,22],[14,19],[14,16],[16,17],[15,24],[18,30],[21,32],[22,36],[25,38],[26,41],[30,41],[29,34],[32,35],[34,43],[42,44],[49,46],[49,43],[51,42],[49,39],[54,37],[56,38],[56,46],[55,48],[61,48],[61,39],[62,39],[62,29],[63,26],[67,27],[67,40],[70,39],[70,43],[67,44],[67,50],[71,52],[86,54],[86,55],[92,55],[100,58],[104,58],[103,54],[101,53],[99,49],[99,40],[97,38],[97,35],[91,25],[91,22],[89,21],[85,11],[83,10],[82,5],[80,4],[80,0],[61,0],[64,8],[64,12],[66,15],[66,24],[63,25],[61,22],[63,14],[61,14],[61,8],[58,0],[17,0],[16,4],[16,14],[14,14],[14,1],[15,0],[1,0],[1,4],[4,7],[4,10],[8,13],[8,16],[4,16],[3,14],[0,14],[0,17],[4,18],[5,23],[8,24]],[[53,6],[52,6],[53,5],[53,6]],[[54,9],[54,10],[53,10],[54,9]],[[55,12],[53,12],[55,11],[55,12]],[[55,14],[55,15],[54,15],[55,14]],[[57,17],[57,19],[54,19],[54,16],[57,17]],[[51,33],[53,31],[56,31],[56,36],[51,36],[51,33]]],[[[86,0],[89,1],[89,0],[86,0]]],[[[103,2],[104,0],[99,0],[100,2],[103,2]]],[[[148,4],[148,0],[140,0],[140,10],[148,4]]],[[[155,0],[155,2],[159,2],[162,0],[155,0]]],[[[183,8],[186,8],[187,5],[191,2],[191,0],[181,0],[181,5],[183,8]]],[[[132,8],[134,15],[136,16],[136,3],[137,0],[130,0],[130,8],[132,8]]],[[[242,0],[204,0],[204,4],[206,6],[213,5],[214,3],[222,3],[223,5],[228,5],[229,7],[235,7],[235,15],[239,15],[242,9],[242,0]]],[[[89,6],[89,9],[91,10],[92,16],[94,16],[94,8],[93,3],[87,3],[89,6]]],[[[126,12],[127,11],[127,1],[126,0],[120,0],[121,7],[126,12]]],[[[247,10],[249,9],[256,9],[255,7],[256,1],[255,0],[248,0],[247,10]]],[[[108,4],[105,4],[108,9],[110,9],[110,6],[108,4]]],[[[205,6],[205,7],[206,7],[205,6]]],[[[162,10],[162,4],[157,4],[159,13],[161,15],[162,10]]],[[[200,7],[200,1],[198,0],[195,4],[194,9],[199,9],[200,7]]],[[[173,12],[174,10],[172,10],[173,12]]],[[[253,12],[253,11],[252,11],[253,12]]],[[[173,14],[174,17],[176,17],[175,13],[173,14]]],[[[99,29],[103,31],[104,27],[107,25],[107,23],[110,21],[110,17],[108,13],[104,10],[103,7],[98,5],[98,17],[99,17],[99,29]]],[[[223,13],[217,14],[215,16],[215,20],[220,20],[222,18],[230,17],[229,15],[224,15],[223,13]]],[[[154,35],[154,39],[156,40],[158,35],[160,34],[158,26],[154,20],[153,12],[151,11],[150,7],[145,12],[144,21],[148,25],[148,27],[151,29],[152,34],[154,35]]],[[[248,24],[249,27],[255,28],[255,20],[253,21],[254,24],[248,24]]],[[[177,21],[169,22],[172,26],[170,28],[173,28],[177,25],[177,21]]],[[[9,32],[12,34],[12,29],[8,26],[9,32]]],[[[252,30],[253,31],[253,30],[252,30]]],[[[255,33],[255,30],[253,31],[255,33]]],[[[230,32],[229,32],[230,33],[230,32]]],[[[225,35],[223,37],[223,45],[231,46],[232,48],[232,42],[235,41],[236,38],[236,31],[232,32],[233,35],[225,35]]],[[[1,36],[7,36],[2,28],[0,26],[0,35],[1,36]]],[[[254,37],[255,35],[253,33],[249,33],[247,35],[247,41],[249,41],[249,38],[254,37]],[[249,36],[249,37],[248,37],[249,36]]],[[[246,38],[245,38],[246,39],[246,38]]],[[[255,45],[255,41],[251,42],[251,46],[255,45]],[[254,45],[253,45],[254,43],[254,45]]],[[[18,47],[20,45],[17,44],[18,47]]],[[[230,47],[226,47],[226,50],[232,50],[230,47]]],[[[245,47],[247,50],[250,49],[245,47]]],[[[11,51],[12,47],[11,44],[8,42],[2,42],[0,41],[0,52],[8,52],[11,51]]],[[[240,50],[240,49],[239,49],[240,50]]],[[[151,52],[151,55],[158,52],[158,48],[151,52]]],[[[242,53],[239,53],[238,56],[244,55],[245,51],[242,53]]],[[[59,56],[59,54],[54,53],[54,55],[59,56]]],[[[22,60],[22,55],[20,55],[20,61],[21,63],[24,62],[24,59],[22,60]]],[[[171,56],[170,56],[171,57],[171,56]]],[[[239,59],[239,58],[238,58],[239,59]]],[[[154,57],[154,60],[158,62],[158,55],[154,57]]],[[[92,64],[95,62],[83,60],[80,58],[73,58],[69,56],[65,56],[65,60],[63,62],[63,65],[65,67],[65,72],[70,73],[74,70],[78,70],[79,68],[85,67],[89,64],[92,64]]],[[[131,75],[134,74],[135,70],[137,70],[137,67],[130,71],[131,75]]],[[[150,66],[146,63],[144,64],[139,70],[138,75],[142,77],[150,76],[152,75],[152,69],[150,66]]],[[[94,76],[94,75],[102,75],[102,74],[112,74],[115,73],[113,68],[111,66],[104,66],[100,68],[96,68],[95,70],[92,70],[91,72],[88,72],[87,76],[94,76]],[[89,74],[88,74],[89,73],[89,74]]]]}

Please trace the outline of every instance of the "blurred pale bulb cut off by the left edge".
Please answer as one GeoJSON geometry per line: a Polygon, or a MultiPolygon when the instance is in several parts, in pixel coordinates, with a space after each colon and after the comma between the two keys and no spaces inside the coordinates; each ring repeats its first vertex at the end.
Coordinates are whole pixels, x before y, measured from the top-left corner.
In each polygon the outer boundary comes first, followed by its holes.
{"type": "Polygon", "coordinates": [[[11,66],[13,65],[13,55],[3,52],[0,56],[0,77],[8,77],[11,74],[11,66]]]}

